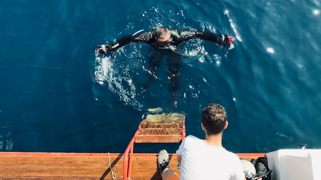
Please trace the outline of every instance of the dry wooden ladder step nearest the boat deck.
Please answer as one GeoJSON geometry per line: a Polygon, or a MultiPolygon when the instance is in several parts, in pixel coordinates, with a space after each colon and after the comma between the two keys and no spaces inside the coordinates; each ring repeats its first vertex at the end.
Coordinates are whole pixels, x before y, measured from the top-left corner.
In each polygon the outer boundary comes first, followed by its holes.
{"type": "Polygon", "coordinates": [[[179,143],[182,135],[138,135],[135,143],[179,143]]]}

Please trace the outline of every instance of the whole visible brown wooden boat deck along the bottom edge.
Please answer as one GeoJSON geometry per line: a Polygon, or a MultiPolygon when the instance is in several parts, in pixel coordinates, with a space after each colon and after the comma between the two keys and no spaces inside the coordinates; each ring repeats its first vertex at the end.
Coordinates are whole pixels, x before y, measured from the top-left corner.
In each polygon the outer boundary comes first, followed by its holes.
{"type": "MultiPolygon", "coordinates": [[[[260,154],[238,154],[257,159],[260,154]]],[[[117,180],[123,179],[123,154],[109,154],[117,180]]],[[[160,180],[157,154],[133,154],[133,180],[160,180]]],[[[0,152],[0,180],[103,180],[112,179],[107,153],[0,152]]],[[[178,174],[177,155],[170,155],[170,167],[178,174]]]]}

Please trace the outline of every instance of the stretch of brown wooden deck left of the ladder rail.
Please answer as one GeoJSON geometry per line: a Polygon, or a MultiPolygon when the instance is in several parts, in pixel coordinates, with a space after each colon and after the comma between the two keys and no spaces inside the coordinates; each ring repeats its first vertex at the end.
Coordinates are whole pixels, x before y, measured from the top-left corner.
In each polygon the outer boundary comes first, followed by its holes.
{"type": "MultiPolygon", "coordinates": [[[[35,179],[111,179],[107,154],[10,153],[9,155],[3,156],[0,153],[0,176],[6,179],[13,179],[13,177],[19,179],[16,177],[20,176],[24,179],[29,179],[29,177],[35,177],[35,179]],[[13,156],[13,154],[18,156],[13,156]]],[[[123,172],[122,156],[122,154],[110,154],[111,167],[120,178],[123,172]]]]}

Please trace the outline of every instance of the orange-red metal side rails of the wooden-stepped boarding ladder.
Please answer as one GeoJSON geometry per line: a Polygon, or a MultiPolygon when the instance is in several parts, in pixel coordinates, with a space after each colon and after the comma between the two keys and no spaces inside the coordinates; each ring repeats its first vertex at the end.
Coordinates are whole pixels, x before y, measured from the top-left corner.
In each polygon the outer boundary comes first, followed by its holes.
{"type": "MultiPolygon", "coordinates": [[[[123,165],[123,180],[131,179],[130,176],[132,175],[132,163],[133,163],[132,157],[133,157],[133,151],[134,151],[134,143],[135,143],[136,136],[139,135],[140,133],[140,129],[141,129],[141,125],[138,126],[138,130],[134,134],[134,137],[132,138],[132,140],[130,141],[130,143],[128,144],[125,150],[124,165],[123,165]],[[130,151],[130,154],[129,154],[129,151],[130,151]],[[128,157],[129,157],[129,161],[128,161],[128,157]]],[[[185,136],[186,136],[186,132],[185,132],[185,118],[184,118],[183,126],[182,126],[182,142],[184,141],[185,136]]]]}

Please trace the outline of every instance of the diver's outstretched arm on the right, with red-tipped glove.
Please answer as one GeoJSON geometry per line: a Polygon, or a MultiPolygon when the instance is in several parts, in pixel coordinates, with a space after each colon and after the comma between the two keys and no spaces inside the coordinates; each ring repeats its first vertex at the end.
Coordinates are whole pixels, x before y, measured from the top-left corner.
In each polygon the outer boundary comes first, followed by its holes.
{"type": "Polygon", "coordinates": [[[226,46],[233,42],[232,37],[228,35],[215,35],[211,32],[198,32],[198,31],[190,31],[190,30],[177,30],[179,43],[183,41],[187,41],[193,38],[201,38],[204,40],[212,41],[216,43],[218,46],[226,46]]]}

